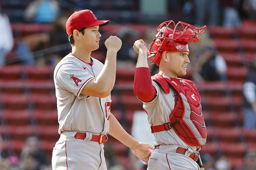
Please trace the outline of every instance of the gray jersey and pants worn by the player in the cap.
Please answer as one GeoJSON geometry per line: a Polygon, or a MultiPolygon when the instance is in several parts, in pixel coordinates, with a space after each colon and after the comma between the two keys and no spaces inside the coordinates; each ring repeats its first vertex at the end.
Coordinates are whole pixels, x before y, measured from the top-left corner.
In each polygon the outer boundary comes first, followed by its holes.
{"type": "Polygon", "coordinates": [[[95,79],[104,66],[97,59],[91,59],[91,64],[86,63],[70,53],[55,67],[58,133],[61,136],[53,150],[53,170],[67,167],[106,169],[104,145],[90,141],[90,136],[108,133],[111,96],[98,98],[81,94],[85,85],[95,79]],[[76,132],[87,133],[88,137],[75,139],[76,132]]]}

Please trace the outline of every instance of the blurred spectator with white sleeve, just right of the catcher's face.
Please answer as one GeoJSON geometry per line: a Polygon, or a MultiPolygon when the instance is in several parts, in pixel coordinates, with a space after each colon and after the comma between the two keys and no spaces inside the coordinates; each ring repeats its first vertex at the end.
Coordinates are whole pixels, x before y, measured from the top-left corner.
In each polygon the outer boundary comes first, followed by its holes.
{"type": "Polygon", "coordinates": [[[194,81],[216,81],[226,79],[226,61],[216,51],[209,32],[201,35],[200,41],[189,44],[188,76],[194,81]]]}

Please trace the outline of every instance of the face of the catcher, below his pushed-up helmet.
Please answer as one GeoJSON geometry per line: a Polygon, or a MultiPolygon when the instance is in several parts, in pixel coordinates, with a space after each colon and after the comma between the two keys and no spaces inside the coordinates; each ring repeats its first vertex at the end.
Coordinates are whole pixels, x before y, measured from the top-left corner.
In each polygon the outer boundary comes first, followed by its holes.
{"type": "Polygon", "coordinates": [[[168,52],[168,71],[171,78],[177,78],[178,76],[185,76],[187,65],[190,62],[188,58],[189,52],[168,52]]]}

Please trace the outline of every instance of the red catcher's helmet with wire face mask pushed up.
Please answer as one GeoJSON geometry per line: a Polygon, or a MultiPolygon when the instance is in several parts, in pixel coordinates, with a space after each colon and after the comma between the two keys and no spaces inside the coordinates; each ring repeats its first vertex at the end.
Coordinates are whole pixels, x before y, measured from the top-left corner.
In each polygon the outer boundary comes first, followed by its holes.
{"type": "Polygon", "coordinates": [[[199,35],[206,31],[206,25],[201,28],[197,28],[181,21],[175,25],[174,21],[170,20],[160,24],[157,30],[158,33],[156,34],[156,38],[151,44],[149,44],[151,47],[148,50],[148,58],[152,59],[152,64],[156,63],[156,65],[159,66],[163,52],[189,52],[188,42],[199,42],[199,35]],[[172,26],[174,28],[169,28],[172,26]],[[153,51],[152,47],[154,47],[153,51]]]}

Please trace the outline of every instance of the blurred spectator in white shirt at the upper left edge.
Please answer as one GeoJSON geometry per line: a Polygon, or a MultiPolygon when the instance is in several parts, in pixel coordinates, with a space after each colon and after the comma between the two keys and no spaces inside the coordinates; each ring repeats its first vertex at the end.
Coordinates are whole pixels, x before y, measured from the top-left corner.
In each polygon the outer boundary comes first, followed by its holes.
{"type": "Polygon", "coordinates": [[[11,30],[10,20],[6,14],[1,13],[0,4],[0,65],[5,65],[6,54],[9,53],[14,46],[13,32],[11,30]]]}

